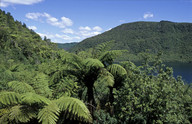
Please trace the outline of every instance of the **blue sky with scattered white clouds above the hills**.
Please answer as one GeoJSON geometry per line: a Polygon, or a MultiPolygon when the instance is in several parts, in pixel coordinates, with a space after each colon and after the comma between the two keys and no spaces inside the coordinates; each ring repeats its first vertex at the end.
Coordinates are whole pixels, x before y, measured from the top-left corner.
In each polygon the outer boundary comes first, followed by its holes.
{"type": "Polygon", "coordinates": [[[192,0],[0,0],[0,9],[55,43],[80,42],[136,21],[192,23],[192,0]]]}

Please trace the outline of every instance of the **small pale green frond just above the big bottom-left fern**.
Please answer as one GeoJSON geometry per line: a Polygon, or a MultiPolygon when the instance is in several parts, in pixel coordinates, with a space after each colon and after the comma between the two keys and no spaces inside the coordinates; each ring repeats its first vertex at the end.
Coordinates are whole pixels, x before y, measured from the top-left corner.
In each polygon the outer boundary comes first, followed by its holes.
{"type": "Polygon", "coordinates": [[[19,81],[11,81],[8,86],[17,93],[35,92],[31,85],[19,81]]]}

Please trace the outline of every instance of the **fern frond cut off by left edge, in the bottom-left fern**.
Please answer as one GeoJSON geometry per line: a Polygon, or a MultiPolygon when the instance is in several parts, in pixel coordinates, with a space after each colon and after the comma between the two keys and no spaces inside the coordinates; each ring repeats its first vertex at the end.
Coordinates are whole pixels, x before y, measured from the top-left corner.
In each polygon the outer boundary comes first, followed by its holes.
{"type": "Polygon", "coordinates": [[[21,95],[15,92],[2,91],[0,92],[0,104],[12,105],[20,103],[21,95]]]}

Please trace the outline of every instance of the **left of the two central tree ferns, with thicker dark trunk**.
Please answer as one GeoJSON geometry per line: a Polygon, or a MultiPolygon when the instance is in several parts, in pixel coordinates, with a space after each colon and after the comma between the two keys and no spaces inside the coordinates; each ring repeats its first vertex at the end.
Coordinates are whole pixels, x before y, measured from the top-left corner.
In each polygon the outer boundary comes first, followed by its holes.
{"type": "Polygon", "coordinates": [[[87,88],[89,110],[93,113],[93,106],[95,106],[93,93],[94,82],[97,80],[100,70],[104,65],[98,59],[87,58],[82,60],[74,54],[66,54],[61,59],[63,61],[63,68],[53,74],[52,83],[58,83],[59,80],[67,75],[75,76],[76,82],[82,87],[87,88]]]}

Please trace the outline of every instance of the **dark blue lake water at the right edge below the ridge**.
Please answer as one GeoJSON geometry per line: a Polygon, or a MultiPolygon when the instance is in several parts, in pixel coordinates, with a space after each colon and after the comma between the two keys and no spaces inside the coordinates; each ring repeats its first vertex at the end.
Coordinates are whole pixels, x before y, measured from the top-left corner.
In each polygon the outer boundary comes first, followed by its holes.
{"type": "Polygon", "coordinates": [[[166,66],[173,68],[173,75],[182,76],[187,83],[192,83],[192,63],[165,63],[166,66]]]}

